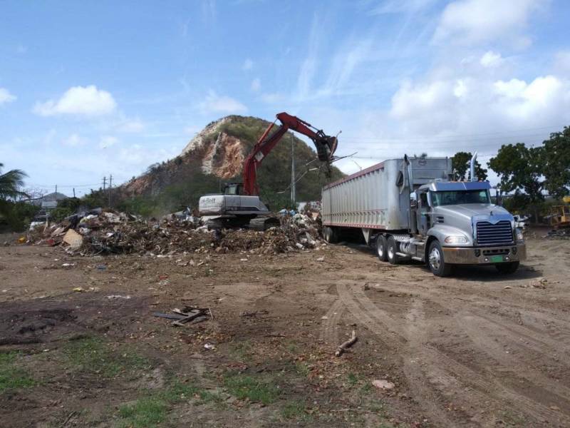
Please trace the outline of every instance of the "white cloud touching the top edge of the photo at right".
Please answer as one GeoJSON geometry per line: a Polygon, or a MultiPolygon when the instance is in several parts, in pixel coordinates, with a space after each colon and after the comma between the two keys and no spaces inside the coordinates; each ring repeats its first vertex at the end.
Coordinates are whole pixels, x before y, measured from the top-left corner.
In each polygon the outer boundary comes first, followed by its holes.
{"type": "Polygon", "coordinates": [[[528,46],[524,34],[532,12],[546,0],[457,0],[445,6],[435,30],[435,43],[481,44],[507,41],[528,46]]]}

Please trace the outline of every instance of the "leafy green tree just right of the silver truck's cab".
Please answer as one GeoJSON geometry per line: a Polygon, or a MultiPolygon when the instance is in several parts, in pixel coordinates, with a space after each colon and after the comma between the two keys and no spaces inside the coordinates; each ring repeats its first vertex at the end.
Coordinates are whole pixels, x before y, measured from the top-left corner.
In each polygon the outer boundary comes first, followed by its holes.
{"type": "Polygon", "coordinates": [[[535,221],[538,220],[537,205],[544,200],[543,183],[540,181],[544,172],[543,150],[542,147],[527,148],[524,143],[506,144],[489,161],[489,167],[499,175],[502,192],[522,190],[527,194],[528,205],[534,208],[535,221]]]}

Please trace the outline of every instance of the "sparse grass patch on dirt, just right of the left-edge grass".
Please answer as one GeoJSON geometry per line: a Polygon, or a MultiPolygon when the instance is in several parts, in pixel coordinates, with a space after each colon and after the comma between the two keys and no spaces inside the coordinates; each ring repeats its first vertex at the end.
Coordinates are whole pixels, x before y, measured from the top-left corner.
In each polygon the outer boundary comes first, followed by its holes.
{"type": "Polygon", "coordinates": [[[97,337],[86,337],[68,342],[63,350],[69,364],[95,372],[103,377],[115,377],[122,372],[133,372],[150,367],[150,362],[132,350],[114,352],[108,343],[97,337]]]}

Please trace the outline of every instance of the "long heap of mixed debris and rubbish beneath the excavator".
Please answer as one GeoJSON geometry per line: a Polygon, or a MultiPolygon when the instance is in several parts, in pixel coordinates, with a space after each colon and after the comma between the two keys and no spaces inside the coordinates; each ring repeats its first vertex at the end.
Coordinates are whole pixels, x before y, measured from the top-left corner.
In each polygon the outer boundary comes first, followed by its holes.
{"type": "Polygon", "coordinates": [[[320,223],[296,214],[281,218],[281,226],[264,232],[224,230],[214,233],[199,222],[172,216],[147,221],[111,210],[75,214],[51,227],[30,230],[28,243],[61,245],[69,253],[150,254],[260,253],[275,254],[318,248],[320,223]]]}

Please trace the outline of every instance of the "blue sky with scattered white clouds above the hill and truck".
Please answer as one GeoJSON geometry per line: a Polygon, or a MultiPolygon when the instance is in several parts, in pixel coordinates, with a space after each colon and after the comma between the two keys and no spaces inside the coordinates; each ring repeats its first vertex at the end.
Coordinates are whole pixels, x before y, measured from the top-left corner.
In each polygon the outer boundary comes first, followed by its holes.
{"type": "Polygon", "coordinates": [[[484,164],[570,125],[569,21],[565,0],[2,0],[0,163],[83,195],[218,118],[287,111],[341,131],[346,173],[484,164]]]}

